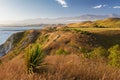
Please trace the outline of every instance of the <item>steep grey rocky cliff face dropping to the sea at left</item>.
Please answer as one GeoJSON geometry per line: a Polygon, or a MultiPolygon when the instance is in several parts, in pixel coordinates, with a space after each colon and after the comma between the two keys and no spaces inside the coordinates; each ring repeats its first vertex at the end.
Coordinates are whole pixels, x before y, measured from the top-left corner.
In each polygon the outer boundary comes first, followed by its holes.
{"type": "Polygon", "coordinates": [[[25,48],[31,42],[34,42],[35,36],[37,33],[30,32],[18,32],[11,35],[4,44],[0,46],[0,56],[3,56],[10,51],[15,49],[22,49],[25,48]],[[25,39],[24,39],[25,38],[25,39]],[[23,40],[23,41],[22,41],[23,40]]]}

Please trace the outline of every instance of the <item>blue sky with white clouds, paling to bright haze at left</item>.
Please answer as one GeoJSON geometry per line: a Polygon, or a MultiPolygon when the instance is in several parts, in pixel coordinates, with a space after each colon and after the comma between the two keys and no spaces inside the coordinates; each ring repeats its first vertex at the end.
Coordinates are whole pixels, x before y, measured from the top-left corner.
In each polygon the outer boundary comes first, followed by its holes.
{"type": "Polygon", "coordinates": [[[120,0],[0,0],[0,23],[112,13],[120,14],[120,0]]]}

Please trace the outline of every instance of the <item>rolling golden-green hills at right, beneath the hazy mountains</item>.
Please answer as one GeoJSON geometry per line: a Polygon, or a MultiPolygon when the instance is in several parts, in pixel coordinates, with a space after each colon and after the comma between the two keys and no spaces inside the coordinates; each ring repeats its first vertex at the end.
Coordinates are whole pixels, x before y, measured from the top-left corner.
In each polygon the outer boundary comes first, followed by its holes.
{"type": "Polygon", "coordinates": [[[68,24],[69,27],[98,27],[98,28],[120,28],[120,18],[107,18],[96,21],[85,21],[68,24]]]}

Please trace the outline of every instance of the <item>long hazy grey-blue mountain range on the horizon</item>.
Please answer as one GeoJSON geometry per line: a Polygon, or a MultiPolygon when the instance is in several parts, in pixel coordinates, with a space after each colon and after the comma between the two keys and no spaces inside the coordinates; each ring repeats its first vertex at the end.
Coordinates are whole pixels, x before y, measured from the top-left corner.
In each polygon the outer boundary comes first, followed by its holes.
{"type": "MultiPolygon", "coordinates": [[[[81,15],[75,17],[59,17],[59,18],[37,18],[37,19],[27,19],[23,21],[16,21],[9,25],[40,25],[40,24],[66,24],[66,23],[74,23],[74,22],[82,22],[82,21],[95,21],[106,18],[120,18],[118,14],[109,14],[109,15],[81,15]]],[[[2,25],[3,26],[3,25],[2,25]]]]}

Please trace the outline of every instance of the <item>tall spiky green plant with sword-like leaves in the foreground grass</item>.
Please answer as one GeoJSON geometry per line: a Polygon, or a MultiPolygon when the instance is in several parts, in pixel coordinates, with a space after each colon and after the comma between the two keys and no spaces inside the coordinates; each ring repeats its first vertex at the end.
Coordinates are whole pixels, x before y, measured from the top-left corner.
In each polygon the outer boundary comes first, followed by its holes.
{"type": "Polygon", "coordinates": [[[38,44],[32,44],[25,53],[25,64],[27,73],[34,73],[42,64],[45,54],[38,44]]]}

